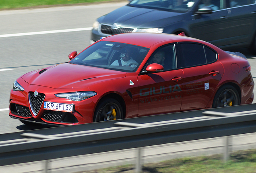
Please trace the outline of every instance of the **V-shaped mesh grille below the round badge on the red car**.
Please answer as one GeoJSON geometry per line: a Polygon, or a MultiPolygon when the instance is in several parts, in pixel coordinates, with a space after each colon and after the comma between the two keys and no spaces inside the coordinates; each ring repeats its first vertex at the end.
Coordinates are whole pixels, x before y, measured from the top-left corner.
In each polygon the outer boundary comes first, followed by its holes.
{"type": "Polygon", "coordinates": [[[44,98],[45,95],[43,93],[38,93],[37,97],[34,96],[34,92],[29,93],[29,104],[34,115],[39,112],[44,98]]]}

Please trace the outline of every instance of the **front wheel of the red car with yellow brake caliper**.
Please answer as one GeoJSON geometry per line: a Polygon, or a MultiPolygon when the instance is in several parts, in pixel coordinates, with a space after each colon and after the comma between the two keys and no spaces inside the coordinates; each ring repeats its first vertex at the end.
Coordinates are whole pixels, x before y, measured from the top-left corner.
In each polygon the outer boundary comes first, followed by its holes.
{"type": "Polygon", "coordinates": [[[99,103],[94,113],[93,122],[122,119],[122,106],[116,99],[104,99],[99,103]]]}

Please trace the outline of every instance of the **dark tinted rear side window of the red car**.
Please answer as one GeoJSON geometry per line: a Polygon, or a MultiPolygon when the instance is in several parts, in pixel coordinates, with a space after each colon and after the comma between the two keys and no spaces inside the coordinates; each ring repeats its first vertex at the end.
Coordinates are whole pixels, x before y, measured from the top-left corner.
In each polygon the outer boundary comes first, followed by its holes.
{"type": "Polygon", "coordinates": [[[202,44],[181,43],[180,48],[184,59],[184,67],[211,63],[217,59],[217,54],[202,44]]]}

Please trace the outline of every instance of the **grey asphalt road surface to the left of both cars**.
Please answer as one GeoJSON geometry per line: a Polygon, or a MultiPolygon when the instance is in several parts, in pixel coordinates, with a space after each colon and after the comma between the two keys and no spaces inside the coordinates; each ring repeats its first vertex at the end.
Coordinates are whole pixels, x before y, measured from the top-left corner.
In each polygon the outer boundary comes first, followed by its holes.
{"type": "MultiPolygon", "coordinates": [[[[89,46],[96,18],[125,4],[127,1],[0,11],[0,134],[30,129],[8,116],[14,80],[29,71],[67,62],[70,52],[89,46]]],[[[50,126],[40,128],[44,127],[50,126]]]]}

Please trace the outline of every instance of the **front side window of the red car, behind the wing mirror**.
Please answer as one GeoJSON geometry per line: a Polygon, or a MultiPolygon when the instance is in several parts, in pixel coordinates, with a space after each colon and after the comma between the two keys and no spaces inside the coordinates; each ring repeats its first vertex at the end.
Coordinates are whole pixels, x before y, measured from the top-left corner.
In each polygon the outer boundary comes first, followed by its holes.
{"type": "Polygon", "coordinates": [[[164,70],[171,70],[177,68],[175,44],[161,47],[157,49],[149,58],[149,63],[161,64],[164,70]]]}

